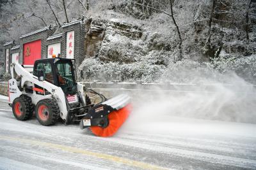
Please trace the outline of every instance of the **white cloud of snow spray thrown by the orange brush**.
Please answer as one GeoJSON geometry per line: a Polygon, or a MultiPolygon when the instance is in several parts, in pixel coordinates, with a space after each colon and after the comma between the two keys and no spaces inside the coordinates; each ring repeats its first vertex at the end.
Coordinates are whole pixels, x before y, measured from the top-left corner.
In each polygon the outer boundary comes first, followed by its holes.
{"type": "Polygon", "coordinates": [[[225,80],[228,84],[207,78],[197,84],[187,84],[186,90],[186,84],[177,84],[175,90],[156,88],[133,92],[134,110],[123,130],[169,131],[170,128],[182,128],[173,127],[175,122],[180,124],[181,119],[186,122],[191,118],[193,122],[214,120],[255,124],[255,87],[234,73],[228,74],[225,80]]]}

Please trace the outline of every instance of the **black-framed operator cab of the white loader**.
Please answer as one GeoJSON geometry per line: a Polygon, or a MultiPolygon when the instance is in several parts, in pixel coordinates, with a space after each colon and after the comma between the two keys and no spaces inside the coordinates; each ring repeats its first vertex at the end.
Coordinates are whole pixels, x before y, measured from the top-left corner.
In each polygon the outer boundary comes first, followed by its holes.
{"type": "Polygon", "coordinates": [[[40,59],[34,64],[33,74],[42,80],[48,81],[67,94],[76,94],[77,83],[75,78],[74,60],[72,59],[40,59]]]}

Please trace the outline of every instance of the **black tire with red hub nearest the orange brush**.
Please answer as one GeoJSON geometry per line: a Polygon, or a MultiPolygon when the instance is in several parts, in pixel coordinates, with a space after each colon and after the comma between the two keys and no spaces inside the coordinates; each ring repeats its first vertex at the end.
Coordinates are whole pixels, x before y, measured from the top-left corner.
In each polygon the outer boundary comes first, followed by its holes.
{"type": "Polygon", "coordinates": [[[41,125],[54,125],[60,118],[60,109],[54,99],[42,99],[36,104],[36,118],[41,125]]]}

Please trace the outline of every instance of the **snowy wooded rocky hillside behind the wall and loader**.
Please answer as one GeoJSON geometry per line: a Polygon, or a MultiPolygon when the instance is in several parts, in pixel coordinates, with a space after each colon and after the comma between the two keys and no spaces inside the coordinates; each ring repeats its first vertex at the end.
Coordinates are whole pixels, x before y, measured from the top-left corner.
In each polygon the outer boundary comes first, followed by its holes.
{"type": "MultiPolygon", "coordinates": [[[[46,1],[7,2],[1,6],[0,44],[45,24],[58,25],[46,1]]],[[[84,15],[90,27],[79,74],[86,80],[188,82],[231,71],[255,83],[254,1],[170,2],[91,1],[86,11],[68,0],[68,19],[84,15]]],[[[61,2],[51,5],[58,22],[67,22],[61,2]]]]}

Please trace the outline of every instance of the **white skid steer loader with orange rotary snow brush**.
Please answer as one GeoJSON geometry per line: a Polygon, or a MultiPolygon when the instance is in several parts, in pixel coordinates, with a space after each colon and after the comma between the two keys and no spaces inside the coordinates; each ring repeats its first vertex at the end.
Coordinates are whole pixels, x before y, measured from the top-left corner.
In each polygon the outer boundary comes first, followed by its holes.
{"type": "Polygon", "coordinates": [[[131,111],[130,97],[121,94],[106,99],[102,94],[76,82],[74,59],[52,58],[35,61],[33,74],[13,62],[8,82],[9,104],[17,120],[28,120],[35,112],[42,125],[58,119],[65,124],[79,122],[96,136],[113,136],[131,111]],[[93,104],[85,92],[99,95],[93,104]]]}

